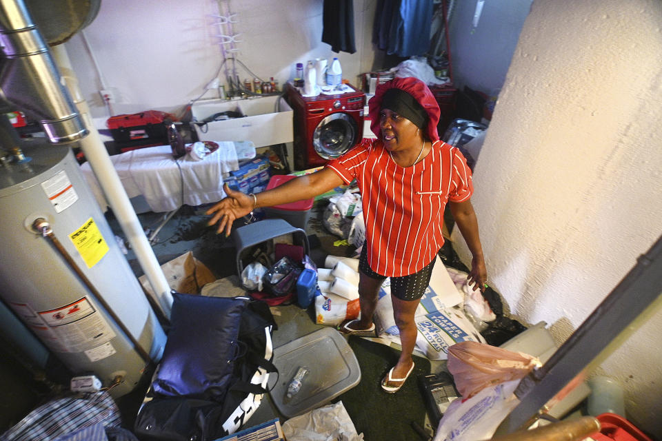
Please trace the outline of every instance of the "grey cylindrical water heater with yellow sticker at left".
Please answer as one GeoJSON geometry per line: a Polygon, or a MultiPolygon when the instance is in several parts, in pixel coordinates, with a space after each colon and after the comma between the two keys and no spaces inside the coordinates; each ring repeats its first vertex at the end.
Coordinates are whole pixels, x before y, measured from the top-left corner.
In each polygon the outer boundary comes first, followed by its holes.
{"type": "Polygon", "coordinates": [[[161,358],[163,329],[70,148],[21,147],[0,167],[0,297],[74,375],[121,381],[121,396],[161,358]]]}

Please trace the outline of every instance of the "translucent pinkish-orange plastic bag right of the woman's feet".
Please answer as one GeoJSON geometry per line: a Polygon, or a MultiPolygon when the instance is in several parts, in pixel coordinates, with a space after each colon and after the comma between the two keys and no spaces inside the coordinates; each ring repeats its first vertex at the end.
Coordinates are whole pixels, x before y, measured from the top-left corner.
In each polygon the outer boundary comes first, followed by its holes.
{"type": "Polygon", "coordinates": [[[534,356],[479,342],[460,342],[448,349],[448,371],[463,398],[494,384],[519,380],[540,366],[534,356]]]}

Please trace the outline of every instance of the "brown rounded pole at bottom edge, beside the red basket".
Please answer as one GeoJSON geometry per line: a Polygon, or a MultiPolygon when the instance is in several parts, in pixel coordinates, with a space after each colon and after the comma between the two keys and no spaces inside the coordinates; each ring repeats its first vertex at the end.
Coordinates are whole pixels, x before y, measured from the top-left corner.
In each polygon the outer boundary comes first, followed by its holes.
{"type": "Polygon", "coordinates": [[[596,418],[583,416],[576,420],[559,421],[536,429],[496,436],[490,441],[580,441],[599,431],[600,422],[596,418]]]}

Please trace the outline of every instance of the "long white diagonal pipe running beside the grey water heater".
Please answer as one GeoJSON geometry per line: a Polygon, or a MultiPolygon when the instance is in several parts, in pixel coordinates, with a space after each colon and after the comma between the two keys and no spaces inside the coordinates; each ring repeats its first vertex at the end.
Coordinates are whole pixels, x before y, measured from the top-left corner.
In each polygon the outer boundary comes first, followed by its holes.
{"type": "Polygon", "coordinates": [[[88,103],[81,96],[77,76],[71,67],[66,48],[64,45],[57,45],[52,48],[52,52],[55,61],[63,72],[63,78],[74,97],[74,102],[78,106],[83,121],[90,132],[86,138],[79,141],[81,149],[90,162],[92,170],[99,181],[99,185],[103,189],[103,194],[106,196],[110,207],[112,207],[112,212],[117,217],[117,220],[119,220],[119,224],[124,234],[126,234],[126,238],[131,244],[141,268],[145,272],[150,285],[152,285],[152,290],[156,293],[157,302],[159,303],[159,307],[161,307],[163,316],[169,319],[170,309],[172,307],[172,294],[170,294],[168,280],[163,275],[159,261],[154,256],[154,250],[150,246],[145,232],[143,232],[143,227],[129,201],[126,190],[119,176],[117,176],[112,161],[110,161],[106,146],[103,145],[99,137],[99,132],[92,123],[88,103]]]}

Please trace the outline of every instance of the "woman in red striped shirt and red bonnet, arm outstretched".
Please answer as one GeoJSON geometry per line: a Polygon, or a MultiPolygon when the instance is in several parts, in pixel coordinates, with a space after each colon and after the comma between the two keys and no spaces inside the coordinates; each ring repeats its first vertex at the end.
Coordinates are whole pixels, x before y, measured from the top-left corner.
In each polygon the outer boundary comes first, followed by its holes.
{"type": "Polygon", "coordinates": [[[365,244],[359,259],[361,318],[343,322],[345,334],[374,334],[372,316],[383,280],[390,277],[401,355],[381,387],[398,391],[414,369],[417,328],[414,313],[430,282],[443,245],[443,212],[449,204],[455,223],[472,252],[469,282],[484,289],[487,271],[470,202],[471,172],[463,155],[439,140],[439,105],[422,81],[397,78],[379,85],[368,102],[370,128],[364,139],[319,172],[292,179],[260,194],[225,187],[228,197],[208,210],[209,225],[230,234],[234,220],[255,207],[269,207],[328,192],[357,180],[361,190],[365,244]]]}

